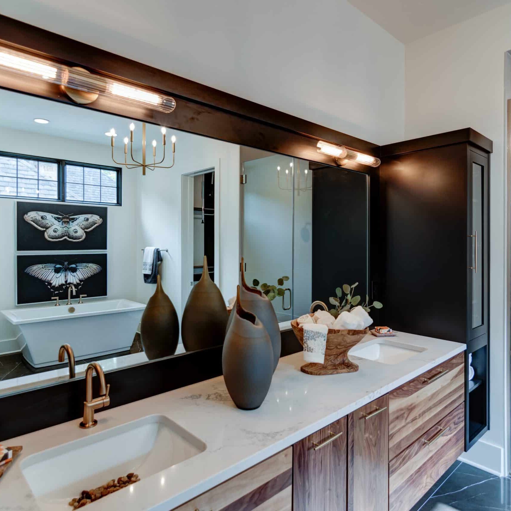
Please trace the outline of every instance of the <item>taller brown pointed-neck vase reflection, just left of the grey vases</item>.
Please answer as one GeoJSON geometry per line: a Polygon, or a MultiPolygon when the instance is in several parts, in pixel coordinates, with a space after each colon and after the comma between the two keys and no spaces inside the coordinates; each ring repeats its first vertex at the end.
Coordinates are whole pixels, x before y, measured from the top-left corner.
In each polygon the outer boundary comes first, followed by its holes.
{"type": "Polygon", "coordinates": [[[223,344],[228,313],[217,285],[207,271],[207,259],[200,281],[192,288],[181,320],[181,339],[186,351],[223,344]]]}

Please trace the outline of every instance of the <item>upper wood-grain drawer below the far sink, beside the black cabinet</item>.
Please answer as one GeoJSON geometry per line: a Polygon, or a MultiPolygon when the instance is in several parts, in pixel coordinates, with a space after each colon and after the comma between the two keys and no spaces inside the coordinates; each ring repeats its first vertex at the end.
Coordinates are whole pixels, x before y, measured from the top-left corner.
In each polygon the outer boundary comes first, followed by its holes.
{"type": "Polygon", "coordinates": [[[389,459],[464,402],[464,353],[389,393],[389,459]]]}

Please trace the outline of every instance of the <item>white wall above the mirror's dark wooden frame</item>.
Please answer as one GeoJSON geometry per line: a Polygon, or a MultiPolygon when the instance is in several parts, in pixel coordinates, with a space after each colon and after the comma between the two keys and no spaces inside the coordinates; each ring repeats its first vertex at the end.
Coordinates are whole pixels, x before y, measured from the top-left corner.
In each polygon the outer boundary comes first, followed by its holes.
{"type": "Polygon", "coordinates": [[[403,135],[403,44],[347,0],[0,0],[0,11],[371,142],[403,135]]]}

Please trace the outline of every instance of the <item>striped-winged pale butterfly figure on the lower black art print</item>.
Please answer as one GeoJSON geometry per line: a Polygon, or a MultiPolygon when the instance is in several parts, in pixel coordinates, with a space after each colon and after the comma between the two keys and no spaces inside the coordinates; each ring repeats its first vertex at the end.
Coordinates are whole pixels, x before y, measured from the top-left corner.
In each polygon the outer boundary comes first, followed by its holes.
{"type": "Polygon", "coordinates": [[[25,269],[25,273],[43,281],[53,292],[62,291],[70,284],[80,289],[87,278],[96,275],[103,268],[94,263],[58,263],[34,264],[25,269]]]}

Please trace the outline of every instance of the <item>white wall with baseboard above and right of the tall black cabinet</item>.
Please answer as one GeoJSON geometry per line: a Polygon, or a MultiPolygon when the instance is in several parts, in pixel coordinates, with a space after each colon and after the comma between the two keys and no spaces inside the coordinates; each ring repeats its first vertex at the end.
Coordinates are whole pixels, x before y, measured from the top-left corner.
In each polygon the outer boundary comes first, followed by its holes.
{"type": "MultiPolygon", "coordinates": [[[[509,470],[509,345],[506,311],[505,52],[511,5],[406,45],[405,137],[472,127],[491,138],[491,430],[463,456],[499,474],[509,470]]],[[[509,67],[508,67],[509,72],[509,67]]]]}

